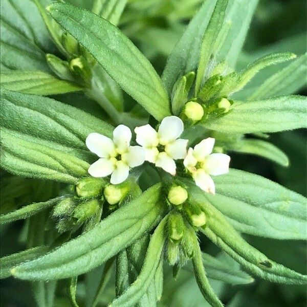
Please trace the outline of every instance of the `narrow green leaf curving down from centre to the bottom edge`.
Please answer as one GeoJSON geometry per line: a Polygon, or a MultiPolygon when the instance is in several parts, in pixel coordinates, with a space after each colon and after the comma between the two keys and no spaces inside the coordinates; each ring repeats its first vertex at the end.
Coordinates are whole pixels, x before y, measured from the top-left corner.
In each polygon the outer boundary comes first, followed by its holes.
{"type": "Polygon", "coordinates": [[[160,264],[162,251],[165,244],[165,225],[167,217],[160,222],[155,232],[150,238],[149,246],[146,252],[144,264],[140,275],[136,281],[118,298],[116,298],[109,306],[111,307],[127,307],[138,302],[148,289],[150,282],[155,278],[155,273],[160,264]]]}

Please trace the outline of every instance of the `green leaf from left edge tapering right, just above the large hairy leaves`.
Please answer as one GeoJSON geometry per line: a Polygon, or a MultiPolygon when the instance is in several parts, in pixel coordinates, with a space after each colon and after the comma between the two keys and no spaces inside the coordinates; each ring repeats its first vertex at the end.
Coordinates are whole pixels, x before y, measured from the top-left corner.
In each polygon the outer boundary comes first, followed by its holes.
{"type": "Polygon", "coordinates": [[[4,89],[37,95],[54,95],[81,90],[71,82],[59,80],[41,71],[2,71],[1,86],[4,89]]]}

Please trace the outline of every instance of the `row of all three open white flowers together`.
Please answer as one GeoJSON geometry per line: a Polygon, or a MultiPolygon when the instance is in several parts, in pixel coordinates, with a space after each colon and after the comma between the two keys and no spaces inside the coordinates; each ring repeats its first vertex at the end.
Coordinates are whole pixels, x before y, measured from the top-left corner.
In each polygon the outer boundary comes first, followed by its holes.
{"type": "Polygon", "coordinates": [[[86,138],[86,146],[100,159],[89,168],[93,177],[106,177],[111,174],[110,182],[119,184],[125,181],[129,169],[145,161],[161,167],[174,176],[176,163],[183,159],[187,172],[196,185],[206,192],[215,193],[212,176],[229,171],[230,157],[224,153],[211,153],[214,139],[207,138],[187,150],[188,140],[180,139],[184,125],[176,116],[165,117],[156,131],[149,124],[136,127],[136,142],[141,146],[130,146],[131,130],[125,125],[113,131],[113,140],[98,133],[86,138]]]}

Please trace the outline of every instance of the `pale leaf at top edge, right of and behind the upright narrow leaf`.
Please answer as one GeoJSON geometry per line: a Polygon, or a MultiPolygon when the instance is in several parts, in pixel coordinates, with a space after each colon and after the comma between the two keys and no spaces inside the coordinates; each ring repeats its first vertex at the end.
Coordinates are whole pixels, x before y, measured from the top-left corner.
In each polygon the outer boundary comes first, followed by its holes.
{"type": "MultiPolygon", "coordinates": [[[[223,28],[228,28],[229,24],[231,27],[218,52],[218,60],[226,59],[229,65],[235,67],[257,4],[258,0],[229,0],[223,28]]],[[[227,31],[223,28],[221,32],[227,31]]]]}

